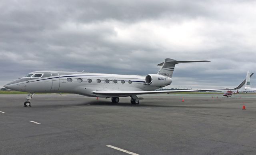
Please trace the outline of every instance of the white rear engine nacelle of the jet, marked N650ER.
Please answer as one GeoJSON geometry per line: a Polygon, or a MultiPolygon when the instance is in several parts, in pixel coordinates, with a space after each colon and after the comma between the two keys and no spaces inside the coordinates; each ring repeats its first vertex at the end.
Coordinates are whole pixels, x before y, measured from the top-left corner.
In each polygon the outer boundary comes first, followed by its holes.
{"type": "Polygon", "coordinates": [[[148,74],[145,78],[145,82],[147,85],[152,85],[156,87],[165,87],[172,83],[172,78],[167,76],[162,76],[159,74],[148,74]]]}

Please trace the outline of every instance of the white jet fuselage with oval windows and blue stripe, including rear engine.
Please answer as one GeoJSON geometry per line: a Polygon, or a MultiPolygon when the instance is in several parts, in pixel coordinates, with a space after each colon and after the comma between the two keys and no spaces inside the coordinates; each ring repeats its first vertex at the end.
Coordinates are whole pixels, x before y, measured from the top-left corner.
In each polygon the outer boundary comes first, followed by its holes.
{"type": "Polygon", "coordinates": [[[145,76],[37,71],[8,83],[4,87],[30,93],[61,92],[76,93],[90,97],[123,97],[127,95],[95,94],[93,91],[146,91],[159,89],[172,83],[171,78],[158,74],[150,74],[147,77],[148,83],[146,83],[145,76]]]}

